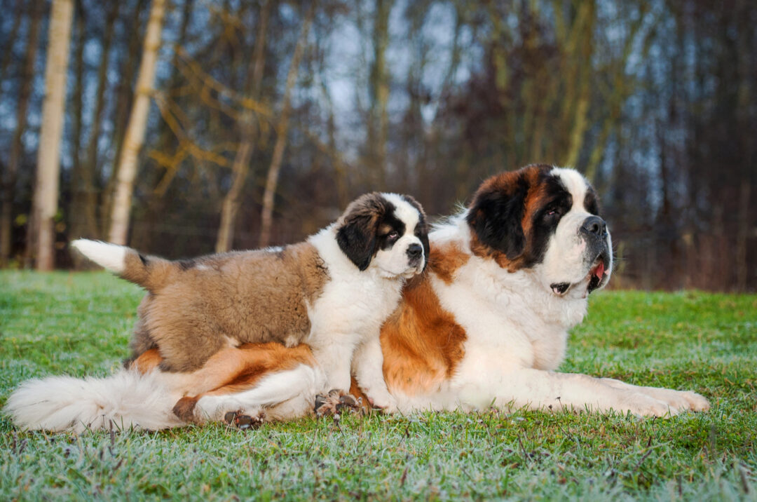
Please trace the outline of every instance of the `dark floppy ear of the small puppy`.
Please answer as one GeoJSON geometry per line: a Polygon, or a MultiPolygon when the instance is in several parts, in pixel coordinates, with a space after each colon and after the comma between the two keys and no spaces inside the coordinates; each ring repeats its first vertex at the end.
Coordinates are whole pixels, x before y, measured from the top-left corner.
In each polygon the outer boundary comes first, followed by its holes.
{"type": "Polygon", "coordinates": [[[373,259],[378,225],[385,213],[384,198],[378,193],[370,193],[347,206],[337,222],[336,242],[360,270],[366,270],[373,259]]]}

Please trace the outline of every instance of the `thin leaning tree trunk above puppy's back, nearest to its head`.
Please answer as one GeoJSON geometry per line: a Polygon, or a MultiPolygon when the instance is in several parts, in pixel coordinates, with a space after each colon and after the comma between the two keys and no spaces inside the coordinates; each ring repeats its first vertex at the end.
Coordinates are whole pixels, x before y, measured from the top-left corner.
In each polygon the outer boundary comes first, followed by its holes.
{"type": "Polygon", "coordinates": [[[289,128],[289,113],[291,112],[291,89],[297,80],[297,74],[300,67],[302,53],[305,50],[307,42],[307,32],[310,30],[310,23],[316,14],[316,2],[310,4],[310,11],[302,24],[302,30],[294,47],[294,55],[291,57],[291,64],[286,76],[286,88],[282,97],[282,111],[279,117],[279,123],[276,124],[276,145],[273,147],[273,157],[268,167],[268,177],[266,178],[266,190],[263,192],[263,211],[260,214],[260,247],[265,247],[271,240],[271,226],[273,226],[273,196],[276,194],[276,185],[279,182],[279,170],[282,167],[284,157],[284,148],[286,148],[286,135],[289,128]]]}

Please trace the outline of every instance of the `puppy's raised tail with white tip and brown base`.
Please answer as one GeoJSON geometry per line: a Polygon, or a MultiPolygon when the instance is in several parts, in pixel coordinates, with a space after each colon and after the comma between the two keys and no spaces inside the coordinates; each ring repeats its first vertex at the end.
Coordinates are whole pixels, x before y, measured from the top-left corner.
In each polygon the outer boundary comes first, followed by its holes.
{"type": "Polygon", "coordinates": [[[101,267],[118,274],[127,281],[155,292],[179,270],[178,263],[154,256],[139,254],[132,248],[109,242],[76,239],[71,247],[101,267]]]}

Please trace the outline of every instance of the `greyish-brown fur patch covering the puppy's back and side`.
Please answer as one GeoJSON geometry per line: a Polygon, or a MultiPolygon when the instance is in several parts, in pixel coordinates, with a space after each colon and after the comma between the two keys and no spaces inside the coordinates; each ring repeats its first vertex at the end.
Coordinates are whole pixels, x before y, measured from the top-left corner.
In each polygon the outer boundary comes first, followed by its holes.
{"type": "MultiPolygon", "coordinates": [[[[136,253],[128,256],[123,276],[135,280],[145,262],[136,253]]],[[[160,367],[168,371],[198,369],[229,343],[297,344],[310,332],[307,304],[329,278],[307,242],[279,253],[214,254],[184,266],[152,260],[147,267],[150,274],[156,267],[157,276],[150,275],[151,293],[139,306],[132,349],[139,355],[159,348],[160,367]]]]}

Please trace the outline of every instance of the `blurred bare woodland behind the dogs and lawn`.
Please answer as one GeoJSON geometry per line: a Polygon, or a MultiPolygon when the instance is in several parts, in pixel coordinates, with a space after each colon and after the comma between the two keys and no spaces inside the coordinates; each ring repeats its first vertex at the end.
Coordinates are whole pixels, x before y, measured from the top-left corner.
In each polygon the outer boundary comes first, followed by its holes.
{"type": "Polygon", "coordinates": [[[3,267],[295,242],[369,190],[435,218],[540,162],[594,183],[615,287],[757,288],[751,0],[0,11],[3,267]]]}

